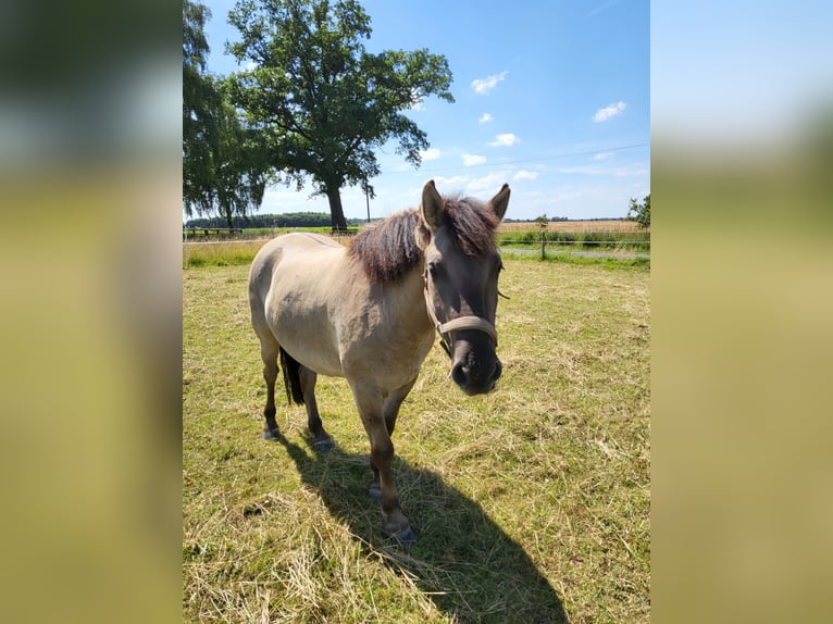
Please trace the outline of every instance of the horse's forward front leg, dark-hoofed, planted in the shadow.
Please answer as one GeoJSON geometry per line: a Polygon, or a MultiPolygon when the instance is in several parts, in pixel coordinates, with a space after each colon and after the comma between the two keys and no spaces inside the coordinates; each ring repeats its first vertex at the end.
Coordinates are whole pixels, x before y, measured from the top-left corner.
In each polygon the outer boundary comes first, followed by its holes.
{"type": "MultiPolygon", "coordinates": [[[[416,536],[408,519],[399,508],[399,497],[394,483],[394,442],[385,423],[384,399],[375,389],[351,384],[356,407],[359,410],[364,430],[370,438],[370,461],[374,475],[378,477],[380,503],[385,520],[385,532],[402,544],[413,544],[416,536]]],[[[374,481],[375,485],[375,481],[374,481]]],[[[373,490],[373,485],[371,485],[373,490]]]]}

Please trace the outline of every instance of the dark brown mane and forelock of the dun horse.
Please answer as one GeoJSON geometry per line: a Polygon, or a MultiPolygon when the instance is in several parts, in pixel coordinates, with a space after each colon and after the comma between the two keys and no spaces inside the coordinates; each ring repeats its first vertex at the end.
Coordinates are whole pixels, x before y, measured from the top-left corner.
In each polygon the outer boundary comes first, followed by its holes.
{"type": "MultiPolygon", "coordinates": [[[[444,197],[444,225],[452,242],[467,255],[494,251],[500,220],[484,203],[471,198],[444,197]]],[[[407,210],[360,232],[347,253],[359,260],[372,282],[394,282],[422,261],[431,230],[418,210],[407,210]]]]}

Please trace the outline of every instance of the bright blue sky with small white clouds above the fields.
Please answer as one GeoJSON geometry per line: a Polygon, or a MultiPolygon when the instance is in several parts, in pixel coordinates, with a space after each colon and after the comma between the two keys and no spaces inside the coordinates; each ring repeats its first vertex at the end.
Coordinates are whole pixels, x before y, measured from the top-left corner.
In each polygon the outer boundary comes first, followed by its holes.
{"type": "MultiPolygon", "coordinates": [[[[240,71],[225,53],[239,36],[235,2],[206,0],[209,71],[240,71]]],[[[434,179],[442,194],[478,199],[503,183],[507,217],[605,219],[650,192],[648,0],[507,3],[494,0],[364,0],[369,52],[427,48],[447,58],[455,103],[435,97],[408,115],[430,148],[414,169],[389,143],[377,151],[371,217],[419,204],[434,179]]],[[[259,213],[328,213],[326,198],[269,188],[259,213]]],[[[341,189],[348,219],[366,219],[364,195],[341,189]]]]}

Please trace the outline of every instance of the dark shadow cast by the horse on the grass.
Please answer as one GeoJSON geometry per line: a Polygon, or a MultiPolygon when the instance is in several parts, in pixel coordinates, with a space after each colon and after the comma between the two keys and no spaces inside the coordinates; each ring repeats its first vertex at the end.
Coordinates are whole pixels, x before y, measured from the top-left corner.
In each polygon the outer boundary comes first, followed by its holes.
{"type": "Polygon", "coordinates": [[[405,574],[440,611],[458,622],[569,622],[547,578],[483,509],[435,473],[394,464],[402,509],[416,532],[411,547],[382,532],[382,513],[368,494],[368,455],[338,446],[309,453],[283,435],[277,440],[306,485],[346,523],[368,552],[405,574]]]}

